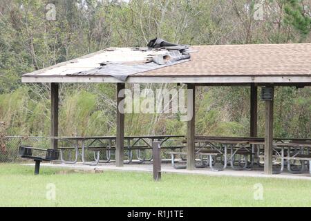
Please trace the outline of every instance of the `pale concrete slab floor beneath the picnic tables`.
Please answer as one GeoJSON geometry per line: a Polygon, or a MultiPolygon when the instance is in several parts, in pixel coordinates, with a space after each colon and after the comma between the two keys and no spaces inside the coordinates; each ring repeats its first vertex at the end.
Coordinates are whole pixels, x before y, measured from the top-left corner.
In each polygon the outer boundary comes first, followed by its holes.
{"type": "MultiPolygon", "coordinates": [[[[28,166],[35,166],[35,164],[23,164],[28,166]]],[[[124,164],[123,167],[116,167],[115,163],[98,164],[96,166],[90,166],[82,163],[77,164],[53,164],[53,163],[41,163],[41,166],[50,166],[53,168],[64,168],[70,170],[81,171],[136,171],[136,172],[152,172],[152,163],[144,164],[124,164]]],[[[162,164],[162,173],[180,173],[180,174],[198,174],[198,175],[211,175],[211,176],[232,176],[232,177],[272,177],[282,179],[301,179],[310,180],[311,175],[307,171],[300,174],[288,173],[284,171],[281,174],[265,175],[263,169],[256,168],[252,171],[234,171],[232,169],[225,169],[225,171],[211,171],[209,168],[195,169],[189,171],[187,169],[174,169],[171,164],[162,164]]]]}

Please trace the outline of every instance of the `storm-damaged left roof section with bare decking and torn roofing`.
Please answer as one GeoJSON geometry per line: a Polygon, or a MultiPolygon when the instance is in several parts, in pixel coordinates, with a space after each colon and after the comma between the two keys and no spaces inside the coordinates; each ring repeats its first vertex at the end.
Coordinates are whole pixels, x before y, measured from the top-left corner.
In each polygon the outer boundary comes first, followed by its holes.
{"type": "Polygon", "coordinates": [[[152,39],[148,48],[107,48],[23,77],[33,76],[111,76],[126,81],[129,75],[156,70],[189,61],[189,46],[152,39]]]}

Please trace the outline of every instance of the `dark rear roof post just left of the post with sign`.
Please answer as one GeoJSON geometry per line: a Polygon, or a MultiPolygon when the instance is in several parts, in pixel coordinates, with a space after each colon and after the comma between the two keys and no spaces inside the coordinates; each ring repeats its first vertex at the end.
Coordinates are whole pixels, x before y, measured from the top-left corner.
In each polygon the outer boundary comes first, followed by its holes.
{"type": "Polygon", "coordinates": [[[250,131],[251,137],[257,137],[257,86],[251,84],[250,90],[250,131]]]}

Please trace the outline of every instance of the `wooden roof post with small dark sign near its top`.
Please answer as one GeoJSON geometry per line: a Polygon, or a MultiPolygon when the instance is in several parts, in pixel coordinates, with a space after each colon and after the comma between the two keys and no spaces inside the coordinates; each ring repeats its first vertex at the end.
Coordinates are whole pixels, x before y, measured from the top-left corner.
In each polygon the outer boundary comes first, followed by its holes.
{"type": "MultiPolygon", "coordinates": [[[[273,90],[273,89],[272,89],[273,90]]],[[[273,99],[265,101],[265,174],[272,174],[273,99]]]]}

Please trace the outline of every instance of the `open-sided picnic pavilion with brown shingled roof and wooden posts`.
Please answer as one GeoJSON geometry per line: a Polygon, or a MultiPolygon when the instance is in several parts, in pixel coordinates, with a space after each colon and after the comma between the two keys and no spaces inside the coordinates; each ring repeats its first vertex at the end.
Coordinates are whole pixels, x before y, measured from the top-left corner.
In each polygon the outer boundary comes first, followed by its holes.
{"type": "MultiPolygon", "coordinates": [[[[124,48],[114,57],[139,57],[136,52],[124,48]]],[[[250,132],[257,136],[257,90],[258,86],[311,86],[311,44],[257,44],[225,46],[191,46],[191,59],[180,64],[164,66],[155,70],[129,75],[121,81],[111,75],[72,75],[100,66],[109,51],[101,50],[91,55],[66,61],[49,68],[22,76],[23,83],[51,84],[51,147],[57,148],[58,104],[60,83],[115,83],[117,93],[125,83],[182,83],[195,91],[196,86],[248,86],[250,95],[250,132]],[[102,60],[101,60],[102,59],[102,60]],[[70,73],[68,75],[68,73],[70,73]]],[[[117,59],[117,58],[114,58],[117,59]]],[[[139,59],[138,59],[139,60],[139,59]]],[[[188,108],[195,112],[195,93],[188,108]]],[[[117,106],[122,98],[117,98],[117,106]]],[[[265,101],[265,173],[272,174],[273,96],[265,101]]],[[[195,114],[194,114],[195,116],[195,114]]],[[[123,166],[124,113],[117,110],[117,134],[115,160],[123,166]]],[[[187,122],[187,169],[195,164],[195,117],[187,122]]]]}

